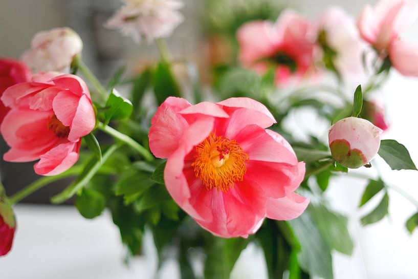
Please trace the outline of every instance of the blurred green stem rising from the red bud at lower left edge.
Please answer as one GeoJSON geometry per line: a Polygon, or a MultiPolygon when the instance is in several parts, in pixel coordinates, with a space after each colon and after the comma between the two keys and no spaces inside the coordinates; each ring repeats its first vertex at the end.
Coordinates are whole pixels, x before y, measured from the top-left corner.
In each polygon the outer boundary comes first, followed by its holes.
{"type": "Polygon", "coordinates": [[[69,170],[65,171],[65,173],[62,173],[62,174],[59,174],[59,175],[56,175],[56,176],[41,177],[38,180],[36,180],[36,181],[32,182],[31,184],[29,184],[28,186],[26,186],[25,188],[18,191],[13,196],[11,196],[9,198],[9,201],[10,201],[11,204],[16,204],[19,201],[21,201],[24,198],[31,195],[34,191],[42,188],[43,186],[46,186],[46,185],[48,185],[52,182],[55,182],[57,180],[61,180],[63,178],[78,175],[82,170],[83,170],[82,166],[74,166],[74,167],[70,168],[69,170]]]}

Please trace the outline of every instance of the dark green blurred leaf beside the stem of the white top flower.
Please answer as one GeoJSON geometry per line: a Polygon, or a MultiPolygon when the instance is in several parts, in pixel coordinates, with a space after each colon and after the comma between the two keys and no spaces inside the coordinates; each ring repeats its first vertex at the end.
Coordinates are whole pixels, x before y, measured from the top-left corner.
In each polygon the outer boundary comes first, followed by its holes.
{"type": "Polygon", "coordinates": [[[153,75],[154,94],[159,104],[169,96],[180,97],[180,88],[171,72],[170,64],[160,61],[153,75]]]}

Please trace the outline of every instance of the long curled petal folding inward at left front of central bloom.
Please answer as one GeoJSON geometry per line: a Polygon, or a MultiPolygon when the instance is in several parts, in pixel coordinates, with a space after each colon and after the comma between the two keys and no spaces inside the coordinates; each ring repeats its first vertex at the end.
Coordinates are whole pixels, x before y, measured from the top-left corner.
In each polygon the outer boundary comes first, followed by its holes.
{"type": "Polygon", "coordinates": [[[190,126],[185,128],[179,147],[170,157],[164,170],[164,181],[171,197],[195,219],[203,219],[189,202],[190,189],[187,179],[183,173],[184,158],[192,150],[193,146],[206,139],[213,128],[213,117],[202,116],[190,126]]]}

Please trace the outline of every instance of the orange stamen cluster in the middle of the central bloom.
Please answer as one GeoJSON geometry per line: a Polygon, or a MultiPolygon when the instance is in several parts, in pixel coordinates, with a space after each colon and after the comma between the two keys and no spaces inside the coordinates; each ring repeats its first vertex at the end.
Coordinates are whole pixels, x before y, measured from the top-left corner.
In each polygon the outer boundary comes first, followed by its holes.
{"type": "Polygon", "coordinates": [[[228,191],[235,181],[243,181],[248,155],[235,140],[211,133],[196,146],[197,155],[191,164],[196,177],[209,190],[228,191]]]}

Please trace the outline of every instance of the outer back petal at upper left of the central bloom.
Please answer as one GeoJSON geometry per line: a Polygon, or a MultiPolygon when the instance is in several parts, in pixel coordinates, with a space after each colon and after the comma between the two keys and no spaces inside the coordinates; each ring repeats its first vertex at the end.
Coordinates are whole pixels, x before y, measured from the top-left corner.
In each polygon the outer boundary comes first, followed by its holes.
{"type": "Polygon", "coordinates": [[[151,120],[149,148],[157,158],[168,158],[179,146],[179,140],[188,126],[178,112],[190,106],[182,98],[168,97],[151,120]]]}

